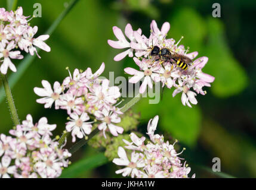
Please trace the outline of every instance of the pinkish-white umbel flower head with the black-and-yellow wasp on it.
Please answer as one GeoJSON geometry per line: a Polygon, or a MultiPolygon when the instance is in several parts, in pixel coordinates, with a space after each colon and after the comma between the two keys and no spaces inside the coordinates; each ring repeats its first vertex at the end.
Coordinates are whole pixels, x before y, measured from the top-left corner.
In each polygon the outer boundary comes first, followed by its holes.
{"type": "MultiPolygon", "coordinates": [[[[204,86],[210,87],[214,77],[202,72],[202,68],[208,62],[208,58],[203,56],[195,59],[198,52],[187,53],[189,49],[179,45],[180,40],[175,43],[174,39],[166,39],[170,29],[169,23],[164,23],[161,30],[158,29],[156,21],[150,24],[150,36],[147,38],[141,32],[141,29],[133,30],[131,24],[125,27],[125,35],[118,27],[113,27],[113,32],[118,41],[108,40],[110,46],[116,49],[127,49],[115,56],[115,61],[124,59],[129,56],[134,59],[139,70],[134,68],[125,68],[127,74],[133,75],[129,83],[138,83],[143,80],[140,86],[140,93],[143,94],[147,86],[153,87],[153,83],[162,83],[162,87],[174,87],[172,96],[182,93],[181,102],[183,105],[191,107],[190,103],[196,105],[196,94],[205,95],[206,91],[202,90],[204,86]],[[127,36],[127,38],[125,37],[127,36]],[[168,49],[169,52],[178,53],[178,55],[186,56],[191,59],[191,63],[180,64],[181,61],[175,60],[173,57],[167,60],[161,59],[161,56],[151,55],[153,47],[158,46],[159,50],[168,49]]],[[[183,37],[181,37],[182,39],[183,37]]]]}

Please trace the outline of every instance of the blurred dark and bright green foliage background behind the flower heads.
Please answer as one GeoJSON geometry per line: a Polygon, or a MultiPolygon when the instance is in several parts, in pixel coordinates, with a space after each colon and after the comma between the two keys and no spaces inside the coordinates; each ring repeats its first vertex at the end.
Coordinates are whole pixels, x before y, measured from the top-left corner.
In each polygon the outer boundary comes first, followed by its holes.
{"type": "MultiPolygon", "coordinates": [[[[39,35],[51,26],[69,1],[19,0],[18,6],[23,7],[24,15],[32,15],[36,2],[42,5],[42,18],[33,18],[30,23],[39,27],[39,35]]],[[[5,1],[0,2],[0,7],[6,7],[5,1]]],[[[31,113],[34,121],[47,116],[50,124],[58,125],[56,134],[63,131],[66,112],[44,109],[37,104],[33,87],[41,87],[41,80],[61,82],[67,76],[66,66],[72,71],[90,66],[95,71],[101,62],[106,64],[103,74],[106,77],[109,71],[114,71],[115,77],[128,77],[124,68],[134,66],[134,62],[130,58],[113,61],[122,50],[107,44],[107,39],[115,40],[112,27],[118,26],[124,31],[125,25],[131,23],[133,29],[140,27],[143,34],[149,36],[152,20],[156,20],[159,27],[168,21],[171,24],[168,37],[178,40],[184,36],[181,44],[189,46],[190,52],[196,50],[198,56],[208,56],[203,71],[213,75],[215,81],[211,88],[205,88],[206,96],[198,95],[199,103],[193,108],[181,104],[181,94],[172,98],[172,90],[164,91],[164,99],[158,105],[141,100],[133,108],[141,114],[138,131],[144,131],[147,121],[159,115],[158,132],[166,139],[177,138],[180,142],[177,148],[186,147],[182,157],[192,167],[192,173],[196,172],[196,177],[220,177],[219,173],[208,170],[213,164],[212,158],[219,157],[221,172],[255,178],[255,11],[256,2],[250,0],[81,0],[48,39],[51,52],[40,52],[42,59],[36,58],[13,88],[18,115],[23,120],[31,113]],[[212,17],[214,2],[221,5],[221,18],[212,17]]],[[[7,134],[12,122],[5,101],[0,106],[0,132],[7,134]]],[[[118,177],[117,167],[102,157],[103,154],[87,145],[72,157],[73,163],[80,160],[76,164],[79,171],[73,169],[76,172],[67,177],[118,177]],[[87,161],[78,165],[90,157],[99,158],[97,166],[100,167],[88,167],[87,161]]]]}

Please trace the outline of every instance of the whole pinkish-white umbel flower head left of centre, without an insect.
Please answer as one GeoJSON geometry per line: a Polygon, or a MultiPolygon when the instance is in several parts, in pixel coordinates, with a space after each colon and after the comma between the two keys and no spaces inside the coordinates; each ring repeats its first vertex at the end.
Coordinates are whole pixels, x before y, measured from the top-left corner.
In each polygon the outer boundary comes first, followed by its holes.
{"type": "Polygon", "coordinates": [[[73,75],[63,80],[60,84],[55,82],[53,89],[48,81],[43,80],[44,88],[35,87],[34,91],[41,99],[38,103],[49,108],[55,103],[55,109],[66,109],[69,122],[66,130],[72,134],[72,142],[76,138],[87,138],[92,131],[92,124],[98,124],[98,129],[106,138],[106,131],[114,136],[122,134],[124,129],[118,126],[121,122],[120,109],[115,106],[121,96],[119,88],[109,85],[109,80],[99,77],[105,65],[101,64],[98,71],[92,74],[91,68],[85,71],[75,69],[73,75]]]}

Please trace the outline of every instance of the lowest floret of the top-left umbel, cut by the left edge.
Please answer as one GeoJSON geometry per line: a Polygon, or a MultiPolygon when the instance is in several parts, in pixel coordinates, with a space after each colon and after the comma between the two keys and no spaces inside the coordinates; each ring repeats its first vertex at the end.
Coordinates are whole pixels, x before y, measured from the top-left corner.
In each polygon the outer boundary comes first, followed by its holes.
{"type": "Polygon", "coordinates": [[[14,41],[11,41],[7,45],[6,49],[2,45],[2,43],[0,43],[0,59],[4,58],[4,61],[2,62],[2,65],[0,67],[0,71],[2,72],[2,74],[7,74],[8,68],[10,68],[13,72],[17,71],[16,66],[13,64],[13,62],[11,62],[11,59],[23,59],[23,55],[20,55],[20,51],[11,51],[14,48],[14,41]]]}

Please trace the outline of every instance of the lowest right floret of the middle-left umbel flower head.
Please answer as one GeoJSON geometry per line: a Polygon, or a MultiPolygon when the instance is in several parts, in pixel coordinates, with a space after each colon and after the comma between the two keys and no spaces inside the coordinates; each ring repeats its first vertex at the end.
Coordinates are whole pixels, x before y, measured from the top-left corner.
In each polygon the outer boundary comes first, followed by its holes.
{"type": "Polygon", "coordinates": [[[101,124],[98,125],[98,129],[103,131],[105,138],[107,138],[105,132],[107,128],[109,128],[110,133],[115,137],[124,132],[124,129],[121,126],[114,125],[121,122],[121,118],[119,118],[118,114],[112,113],[106,108],[103,108],[101,112],[95,112],[95,116],[101,121],[101,124]]]}

